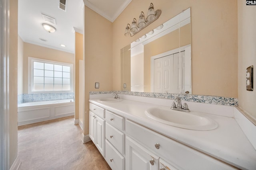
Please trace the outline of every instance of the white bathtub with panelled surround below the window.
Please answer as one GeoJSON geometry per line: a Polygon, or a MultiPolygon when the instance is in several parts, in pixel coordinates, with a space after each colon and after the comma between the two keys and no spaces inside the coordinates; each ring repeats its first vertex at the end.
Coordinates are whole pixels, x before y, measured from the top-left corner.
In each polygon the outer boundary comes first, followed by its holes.
{"type": "Polygon", "coordinates": [[[18,126],[74,115],[75,102],[70,99],[18,104],[18,126]]]}

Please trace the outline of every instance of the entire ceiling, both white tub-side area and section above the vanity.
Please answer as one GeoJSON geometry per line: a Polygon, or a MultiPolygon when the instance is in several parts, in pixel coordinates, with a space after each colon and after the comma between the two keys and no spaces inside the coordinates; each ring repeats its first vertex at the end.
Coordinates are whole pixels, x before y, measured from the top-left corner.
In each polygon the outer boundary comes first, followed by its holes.
{"type": "Polygon", "coordinates": [[[74,31],[84,32],[84,5],[113,22],[131,1],[66,0],[64,11],[59,8],[60,0],[18,0],[18,35],[26,43],[74,53],[74,31]],[[44,20],[42,14],[56,23],[44,20]],[[49,33],[42,23],[54,26],[56,31],[49,33]]]}

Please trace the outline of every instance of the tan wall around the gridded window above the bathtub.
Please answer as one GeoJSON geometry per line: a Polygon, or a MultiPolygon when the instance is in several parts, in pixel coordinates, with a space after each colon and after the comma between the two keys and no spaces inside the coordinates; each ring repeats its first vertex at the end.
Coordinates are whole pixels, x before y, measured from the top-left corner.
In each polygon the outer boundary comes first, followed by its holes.
{"type": "MultiPolygon", "coordinates": [[[[23,93],[28,93],[28,57],[74,64],[74,54],[24,43],[23,49],[23,93]]],[[[75,66],[75,65],[74,65],[75,66]]]]}

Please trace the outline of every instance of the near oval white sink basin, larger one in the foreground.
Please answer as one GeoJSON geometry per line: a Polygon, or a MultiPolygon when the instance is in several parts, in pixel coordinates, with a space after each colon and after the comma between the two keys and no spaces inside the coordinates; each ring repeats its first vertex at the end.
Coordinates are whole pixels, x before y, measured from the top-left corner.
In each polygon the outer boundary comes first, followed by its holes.
{"type": "Polygon", "coordinates": [[[218,127],[216,121],[196,111],[187,113],[172,109],[152,107],[147,109],[145,113],[148,117],[156,121],[184,129],[206,131],[218,127]]]}

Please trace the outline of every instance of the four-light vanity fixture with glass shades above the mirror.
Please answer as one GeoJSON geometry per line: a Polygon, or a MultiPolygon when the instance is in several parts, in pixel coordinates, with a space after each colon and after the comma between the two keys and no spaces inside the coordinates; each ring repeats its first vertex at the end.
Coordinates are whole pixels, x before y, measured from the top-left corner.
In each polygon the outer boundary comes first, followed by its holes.
{"type": "Polygon", "coordinates": [[[148,26],[153,21],[157,20],[161,15],[161,10],[154,11],[154,5],[150,3],[148,7],[148,16],[145,19],[144,12],[141,12],[139,16],[139,22],[137,24],[137,20],[134,18],[132,21],[132,26],[128,23],[125,28],[125,36],[133,36],[142,30],[144,27],[148,26]]]}

